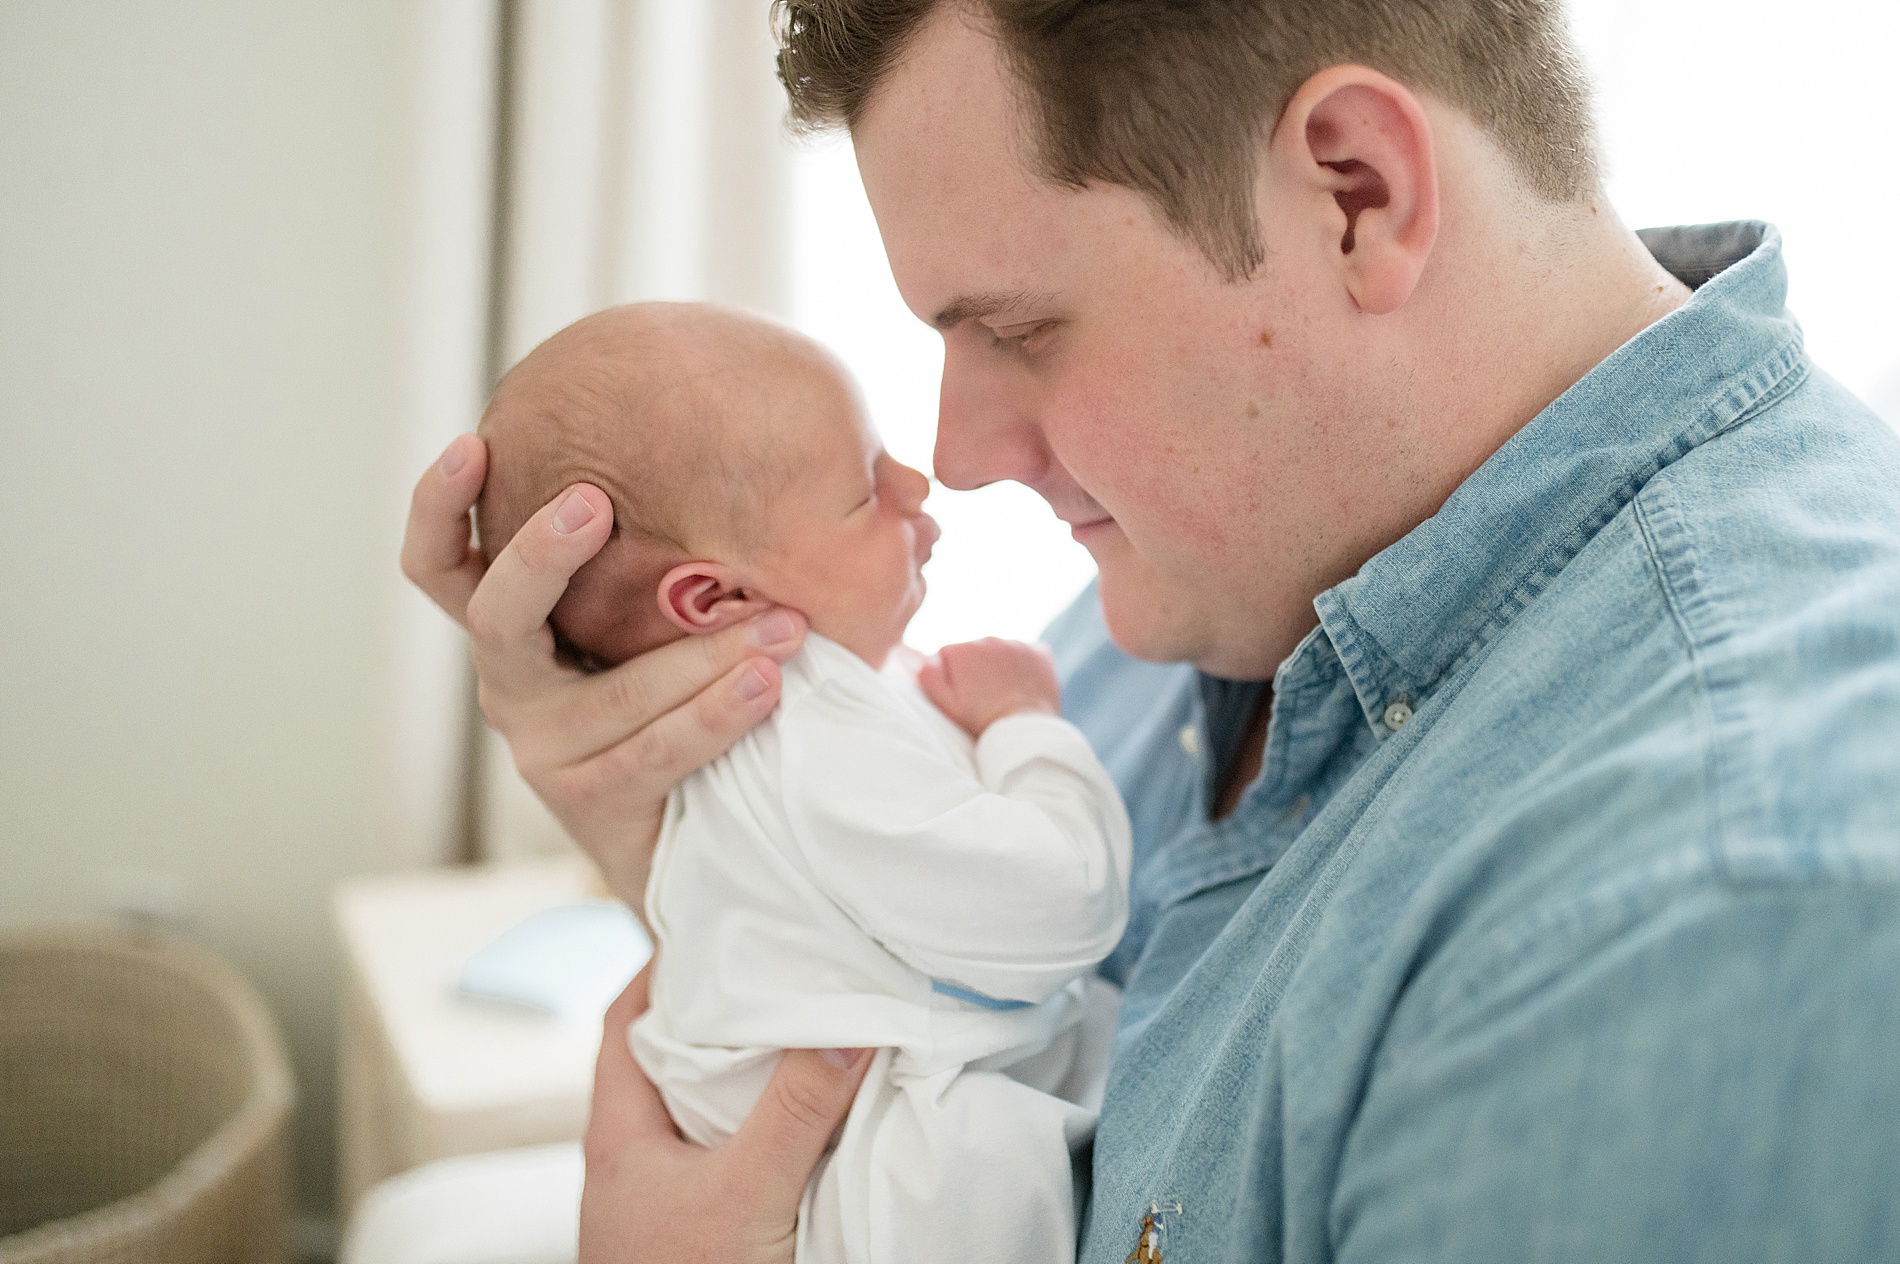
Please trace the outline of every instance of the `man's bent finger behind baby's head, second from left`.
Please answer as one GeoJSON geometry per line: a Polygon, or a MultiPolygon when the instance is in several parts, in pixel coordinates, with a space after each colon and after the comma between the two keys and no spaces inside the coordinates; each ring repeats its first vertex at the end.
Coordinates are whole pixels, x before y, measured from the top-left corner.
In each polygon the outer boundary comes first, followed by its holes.
{"type": "Polygon", "coordinates": [[[547,614],[612,528],[606,492],[576,483],[542,506],[496,555],[467,603],[469,652],[484,688],[502,696],[545,688],[553,663],[547,614]]]}

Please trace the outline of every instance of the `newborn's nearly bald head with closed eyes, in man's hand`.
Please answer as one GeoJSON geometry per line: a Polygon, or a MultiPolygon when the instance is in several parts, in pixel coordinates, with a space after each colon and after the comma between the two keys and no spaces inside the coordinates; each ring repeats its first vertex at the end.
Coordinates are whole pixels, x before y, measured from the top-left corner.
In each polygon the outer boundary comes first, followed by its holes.
{"type": "Polygon", "coordinates": [[[570,483],[614,502],[614,534],[549,620],[583,665],[773,604],[880,665],[923,601],[929,479],[884,452],[838,363],[771,321],[686,302],[598,312],[502,378],[481,435],[490,563],[570,483]]]}

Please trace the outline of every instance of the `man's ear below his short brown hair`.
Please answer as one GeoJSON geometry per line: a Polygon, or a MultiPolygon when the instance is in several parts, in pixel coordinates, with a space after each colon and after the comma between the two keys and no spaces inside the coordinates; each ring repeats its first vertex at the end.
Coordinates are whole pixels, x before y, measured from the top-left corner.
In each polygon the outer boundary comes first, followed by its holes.
{"type": "Polygon", "coordinates": [[[1366,67],[1320,70],[1286,103],[1271,154],[1330,200],[1326,236],[1358,310],[1398,310],[1438,239],[1438,158],[1412,89],[1366,67]]]}

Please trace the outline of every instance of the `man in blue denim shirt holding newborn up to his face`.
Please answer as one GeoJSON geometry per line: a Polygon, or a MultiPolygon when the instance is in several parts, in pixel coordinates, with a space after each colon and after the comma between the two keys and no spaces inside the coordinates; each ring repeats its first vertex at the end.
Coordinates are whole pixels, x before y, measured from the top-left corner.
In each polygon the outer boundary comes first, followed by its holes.
{"type": "MultiPolygon", "coordinates": [[[[1028,483],[1100,566],[1051,629],[1138,846],[1079,1256],[1900,1253],[1900,445],[1805,359],[1775,232],[1617,222],[1548,0],[781,38],[944,333],[939,477],[1028,483]]],[[[566,675],[606,502],[483,580],[481,464],[418,485],[408,572],[633,897],[798,622],[566,675]]],[[[629,1068],[583,1254],[790,1258],[863,1059],[787,1059],[720,1152],[629,1068]]]]}

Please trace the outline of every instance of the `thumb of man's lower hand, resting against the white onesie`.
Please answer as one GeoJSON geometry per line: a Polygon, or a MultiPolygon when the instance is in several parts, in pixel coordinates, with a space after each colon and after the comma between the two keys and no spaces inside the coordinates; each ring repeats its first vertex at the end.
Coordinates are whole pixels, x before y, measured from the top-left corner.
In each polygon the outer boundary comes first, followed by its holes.
{"type": "Polygon", "coordinates": [[[733,1139],[733,1178],[762,1207],[798,1207],[832,1133],[851,1114],[874,1049],[787,1049],[733,1139]]]}

